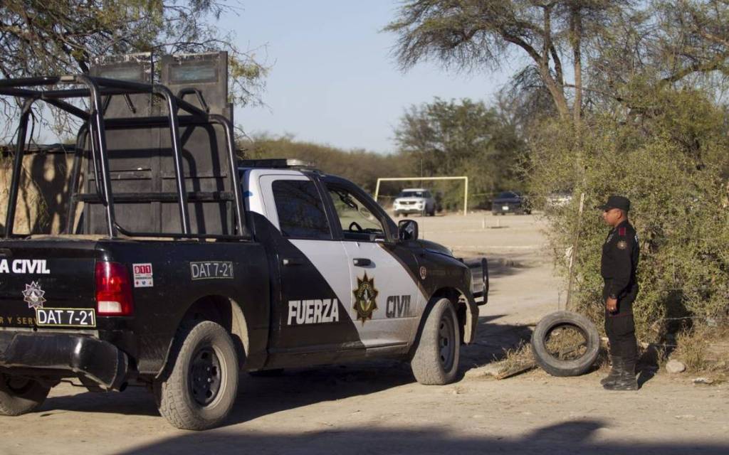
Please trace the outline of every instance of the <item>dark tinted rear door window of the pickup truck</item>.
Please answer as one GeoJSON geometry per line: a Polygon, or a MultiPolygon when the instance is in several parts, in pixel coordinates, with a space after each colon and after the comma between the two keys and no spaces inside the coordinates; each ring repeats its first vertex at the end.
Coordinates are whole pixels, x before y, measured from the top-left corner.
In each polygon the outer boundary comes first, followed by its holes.
{"type": "Polygon", "coordinates": [[[277,180],[271,186],[284,237],[331,240],[324,202],[311,181],[277,180]]]}

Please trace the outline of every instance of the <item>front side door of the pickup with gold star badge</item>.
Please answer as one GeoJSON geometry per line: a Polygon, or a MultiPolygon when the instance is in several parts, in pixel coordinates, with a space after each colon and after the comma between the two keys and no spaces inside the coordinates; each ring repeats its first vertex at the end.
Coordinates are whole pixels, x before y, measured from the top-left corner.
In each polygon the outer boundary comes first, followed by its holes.
{"type": "Polygon", "coordinates": [[[410,251],[387,242],[384,216],[354,185],[327,183],[348,257],[352,304],[348,308],[365,347],[410,342],[424,296],[410,251]],[[375,215],[377,214],[377,215],[375,215]]]}

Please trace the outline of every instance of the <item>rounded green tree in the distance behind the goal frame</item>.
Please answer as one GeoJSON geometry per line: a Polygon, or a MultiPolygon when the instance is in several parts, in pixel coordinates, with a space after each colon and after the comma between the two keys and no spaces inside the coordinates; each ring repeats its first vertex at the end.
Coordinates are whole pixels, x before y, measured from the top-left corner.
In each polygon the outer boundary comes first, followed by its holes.
{"type": "MultiPolygon", "coordinates": [[[[521,189],[515,164],[525,145],[515,127],[494,108],[469,99],[410,106],[395,131],[399,153],[416,176],[468,175],[480,201],[502,189],[521,189]]],[[[456,196],[447,195],[446,199],[456,196]]]]}

